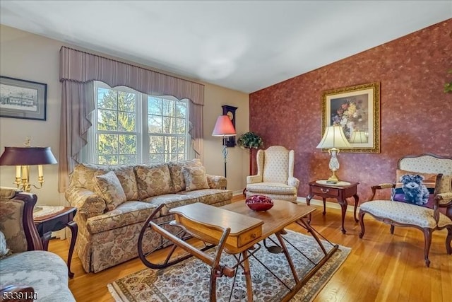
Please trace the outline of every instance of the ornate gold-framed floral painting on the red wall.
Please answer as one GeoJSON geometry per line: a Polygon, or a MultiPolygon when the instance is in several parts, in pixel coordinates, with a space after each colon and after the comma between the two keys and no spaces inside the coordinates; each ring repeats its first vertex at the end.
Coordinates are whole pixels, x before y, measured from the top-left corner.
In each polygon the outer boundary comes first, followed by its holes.
{"type": "Polygon", "coordinates": [[[341,152],[380,153],[379,82],[323,91],[321,111],[322,135],[327,126],[343,127],[352,148],[341,152]]]}

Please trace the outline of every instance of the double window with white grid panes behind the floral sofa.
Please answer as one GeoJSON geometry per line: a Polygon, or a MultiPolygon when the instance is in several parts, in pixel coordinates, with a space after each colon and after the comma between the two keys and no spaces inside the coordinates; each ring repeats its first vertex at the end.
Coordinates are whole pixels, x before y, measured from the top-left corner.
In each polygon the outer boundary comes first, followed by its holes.
{"type": "Polygon", "coordinates": [[[117,165],[182,161],[187,156],[187,100],[95,82],[88,161],[117,165]]]}

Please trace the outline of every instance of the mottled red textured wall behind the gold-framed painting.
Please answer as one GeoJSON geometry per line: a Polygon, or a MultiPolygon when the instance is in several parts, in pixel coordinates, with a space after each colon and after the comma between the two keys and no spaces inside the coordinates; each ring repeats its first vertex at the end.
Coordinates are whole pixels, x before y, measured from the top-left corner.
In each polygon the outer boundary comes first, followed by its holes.
{"type": "Polygon", "coordinates": [[[306,197],[309,181],[331,173],[328,153],[316,149],[322,91],[380,82],[381,152],[339,154],[338,177],[359,182],[360,201],[367,200],[371,185],[395,180],[400,157],[452,156],[452,93],[444,93],[450,69],[452,19],[251,93],[250,130],[265,147],[295,150],[298,196],[306,197]]]}

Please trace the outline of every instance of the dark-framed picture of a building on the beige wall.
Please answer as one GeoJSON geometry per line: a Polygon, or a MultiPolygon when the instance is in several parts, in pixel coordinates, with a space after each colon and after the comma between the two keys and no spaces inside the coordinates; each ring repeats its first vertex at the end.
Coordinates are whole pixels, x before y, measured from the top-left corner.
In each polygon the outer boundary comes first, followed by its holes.
{"type": "Polygon", "coordinates": [[[46,120],[47,84],[0,76],[0,117],[46,120]]]}

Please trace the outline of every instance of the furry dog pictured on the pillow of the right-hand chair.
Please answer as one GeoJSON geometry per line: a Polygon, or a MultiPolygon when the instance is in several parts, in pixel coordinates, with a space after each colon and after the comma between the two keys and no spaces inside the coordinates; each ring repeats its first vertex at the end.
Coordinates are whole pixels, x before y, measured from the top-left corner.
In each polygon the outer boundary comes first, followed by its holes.
{"type": "Polygon", "coordinates": [[[402,175],[400,182],[403,183],[402,190],[406,202],[410,204],[424,205],[429,201],[429,190],[422,184],[422,175],[402,175]]]}

